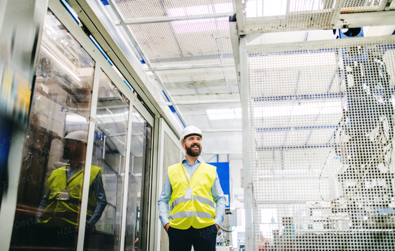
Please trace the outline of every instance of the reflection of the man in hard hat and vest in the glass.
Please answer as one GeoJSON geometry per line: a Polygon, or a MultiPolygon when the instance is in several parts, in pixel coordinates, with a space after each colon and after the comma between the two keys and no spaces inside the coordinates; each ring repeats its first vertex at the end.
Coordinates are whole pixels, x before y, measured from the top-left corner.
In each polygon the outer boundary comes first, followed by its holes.
{"type": "MultiPolygon", "coordinates": [[[[75,131],[62,139],[63,159],[70,161],[67,166],[53,170],[48,178],[49,191],[42,198],[36,214],[37,239],[65,241],[74,245],[81,209],[87,138],[88,132],[75,131]]],[[[91,166],[85,245],[88,244],[90,230],[102,216],[106,205],[102,168],[91,166]]]]}

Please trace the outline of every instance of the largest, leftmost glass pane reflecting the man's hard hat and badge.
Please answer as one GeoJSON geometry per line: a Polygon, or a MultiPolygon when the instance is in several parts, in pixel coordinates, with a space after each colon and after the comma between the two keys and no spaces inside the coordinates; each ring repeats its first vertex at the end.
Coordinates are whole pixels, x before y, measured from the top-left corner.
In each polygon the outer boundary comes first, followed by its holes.
{"type": "Polygon", "coordinates": [[[75,246],[94,66],[94,60],[48,11],[30,126],[23,135],[10,250],[75,246]]]}

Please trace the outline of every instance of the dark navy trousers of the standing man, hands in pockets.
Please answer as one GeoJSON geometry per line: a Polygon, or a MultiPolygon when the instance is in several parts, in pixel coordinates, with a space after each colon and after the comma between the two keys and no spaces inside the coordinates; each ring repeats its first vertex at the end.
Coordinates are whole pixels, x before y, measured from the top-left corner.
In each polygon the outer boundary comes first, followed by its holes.
{"type": "Polygon", "coordinates": [[[169,251],[215,251],[217,226],[211,225],[204,228],[178,229],[169,226],[169,251]]]}

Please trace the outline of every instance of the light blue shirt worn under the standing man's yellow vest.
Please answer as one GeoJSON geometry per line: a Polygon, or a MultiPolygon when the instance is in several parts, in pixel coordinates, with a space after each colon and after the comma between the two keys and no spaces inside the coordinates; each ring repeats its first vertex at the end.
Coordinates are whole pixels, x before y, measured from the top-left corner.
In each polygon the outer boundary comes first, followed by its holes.
{"type": "MultiPolygon", "coordinates": [[[[184,165],[186,172],[188,172],[189,179],[191,179],[196,169],[198,169],[200,163],[201,163],[201,158],[198,157],[198,159],[196,159],[195,161],[195,164],[191,166],[188,163],[188,160],[186,160],[186,158],[184,157],[184,159],[182,160],[182,164],[184,165]]],[[[167,174],[162,193],[160,194],[158,200],[159,219],[162,222],[162,226],[165,226],[167,223],[169,223],[169,202],[172,192],[173,189],[171,188],[169,174],[167,174]]],[[[215,172],[215,180],[213,187],[211,187],[211,194],[213,195],[213,199],[216,204],[214,221],[216,225],[221,226],[222,221],[224,221],[225,218],[226,202],[225,202],[224,192],[222,192],[222,188],[220,185],[220,180],[218,179],[217,172],[215,172]]]]}

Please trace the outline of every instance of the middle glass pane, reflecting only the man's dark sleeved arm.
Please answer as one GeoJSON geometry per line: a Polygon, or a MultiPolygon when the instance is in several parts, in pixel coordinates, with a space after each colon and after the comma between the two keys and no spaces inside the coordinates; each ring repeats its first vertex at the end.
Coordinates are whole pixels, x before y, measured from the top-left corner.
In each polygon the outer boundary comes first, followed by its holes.
{"type": "Polygon", "coordinates": [[[93,217],[85,231],[88,248],[119,250],[128,120],[129,100],[101,71],[92,154],[94,181],[88,201],[93,217]]]}

